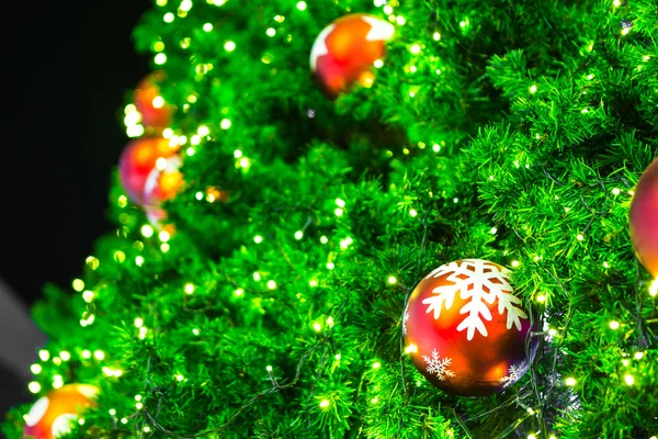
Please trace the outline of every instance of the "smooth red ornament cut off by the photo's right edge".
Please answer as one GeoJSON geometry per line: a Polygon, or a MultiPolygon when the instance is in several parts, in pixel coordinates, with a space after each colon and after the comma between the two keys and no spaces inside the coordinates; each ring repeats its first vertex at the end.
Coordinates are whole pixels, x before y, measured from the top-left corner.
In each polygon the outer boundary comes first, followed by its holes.
{"type": "Polygon", "coordinates": [[[658,159],[644,171],[631,202],[631,239],[637,258],[658,278],[658,159]]]}

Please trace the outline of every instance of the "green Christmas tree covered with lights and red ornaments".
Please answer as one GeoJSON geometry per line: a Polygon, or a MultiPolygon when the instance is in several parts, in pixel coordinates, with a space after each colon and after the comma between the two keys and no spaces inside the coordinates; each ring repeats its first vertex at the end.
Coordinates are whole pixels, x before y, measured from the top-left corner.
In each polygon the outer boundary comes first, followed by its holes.
{"type": "Polygon", "coordinates": [[[655,438],[657,11],[157,0],[5,435],[655,438]]]}

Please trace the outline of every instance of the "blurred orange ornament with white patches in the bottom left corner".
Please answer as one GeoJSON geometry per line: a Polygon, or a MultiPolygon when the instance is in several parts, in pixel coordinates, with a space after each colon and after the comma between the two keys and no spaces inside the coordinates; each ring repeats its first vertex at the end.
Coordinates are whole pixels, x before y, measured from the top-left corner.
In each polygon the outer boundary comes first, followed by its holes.
{"type": "Polygon", "coordinates": [[[52,439],[70,431],[79,413],[95,406],[99,390],[93,385],[68,384],[39,398],[27,414],[24,438],[52,439]]]}

